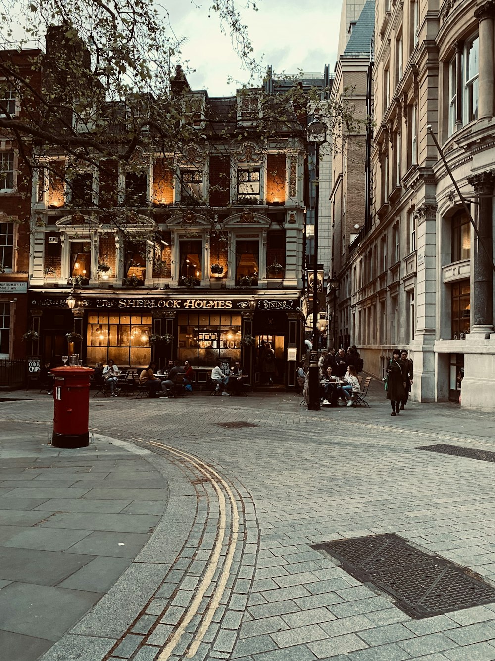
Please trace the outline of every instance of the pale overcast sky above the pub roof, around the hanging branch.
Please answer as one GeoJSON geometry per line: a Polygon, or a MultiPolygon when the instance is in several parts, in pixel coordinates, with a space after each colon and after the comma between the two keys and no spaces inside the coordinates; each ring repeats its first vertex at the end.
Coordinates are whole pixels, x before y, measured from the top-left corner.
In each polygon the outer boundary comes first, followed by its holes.
{"type": "MultiPolygon", "coordinates": [[[[211,97],[235,94],[238,83],[228,85],[228,77],[248,83],[249,75],[240,67],[230,36],[220,30],[218,15],[208,8],[213,0],[170,0],[166,8],[177,36],[187,38],[183,59],[195,73],[187,75],[192,89],[207,89],[211,97]]],[[[244,2],[238,3],[241,7],[244,2]]],[[[300,69],[323,73],[325,64],[333,71],[339,38],[340,0],[257,0],[259,10],[243,11],[243,22],[263,65],[273,65],[275,73],[297,73],[300,69]]]]}

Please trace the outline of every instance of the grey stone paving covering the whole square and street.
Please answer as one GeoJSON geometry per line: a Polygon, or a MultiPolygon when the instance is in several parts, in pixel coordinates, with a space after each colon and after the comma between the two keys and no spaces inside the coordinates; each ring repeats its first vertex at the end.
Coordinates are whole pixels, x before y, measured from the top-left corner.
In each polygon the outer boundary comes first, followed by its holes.
{"type": "Polygon", "coordinates": [[[391,418],[378,387],[369,410],[97,399],[90,447],[59,450],[27,395],[0,401],[9,661],[495,660],[495,604],[414,620],[311,547],[393,531],[495,581],[494,465],[415,449],[490,448],[495,415],[391,418]]]}

